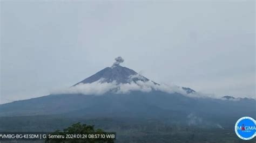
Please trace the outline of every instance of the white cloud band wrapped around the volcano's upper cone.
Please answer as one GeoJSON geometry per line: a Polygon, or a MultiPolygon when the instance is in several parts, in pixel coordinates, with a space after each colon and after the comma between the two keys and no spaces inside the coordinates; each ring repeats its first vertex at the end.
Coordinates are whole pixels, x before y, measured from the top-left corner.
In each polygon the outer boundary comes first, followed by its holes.
{"type": "MultiPolygon", "coordinates": [[[[138,75],[136,76],[138,77],[138,75]]],[[[131,77],[133,78],[133,77],[131,77]]],[[[189,97],[208,97],[200,93],[187,94],[185,90],[177,85],[167,85],[167,84],[156,84],[152,81],[130,81],[130,83],[120,83],[117,84],[116,81],[107,83],[104,82],[104,78],[93,82],[93,83],[80,83],[70,88],[65,88],[61,90],[55,90],[52,94],[84,94],[84,95],[103,95],[106,92],[113,92],[114,94],[129,94],[131,91],[163,91],[169,94],[177,92],[179,94],[189,96],[189,97]]]]}

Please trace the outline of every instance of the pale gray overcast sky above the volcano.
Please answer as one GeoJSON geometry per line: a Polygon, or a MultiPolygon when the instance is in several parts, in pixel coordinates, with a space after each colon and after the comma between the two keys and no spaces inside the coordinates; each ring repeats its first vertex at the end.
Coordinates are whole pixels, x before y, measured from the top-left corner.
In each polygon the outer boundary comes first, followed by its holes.
{"type": "Polygon", "coordinates": [[[255,2],[1,1],[1,101],[69,87],[122,56],[158,83],[255,97],[255,2]]]}

